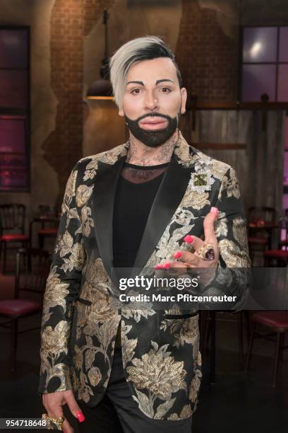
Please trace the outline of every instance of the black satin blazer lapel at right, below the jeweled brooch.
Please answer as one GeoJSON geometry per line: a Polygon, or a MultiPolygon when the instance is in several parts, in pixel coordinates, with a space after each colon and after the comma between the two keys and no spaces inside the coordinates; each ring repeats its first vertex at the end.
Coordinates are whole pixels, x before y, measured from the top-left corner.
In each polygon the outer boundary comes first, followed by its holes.
{"type": "Polygon", "coordinates": [[[164,230],[181,202],[190,179],[191,169],[184,168],[175,156],[169,163],[143,232],[134,268],[143,268],[160,241],[164,230]]]}

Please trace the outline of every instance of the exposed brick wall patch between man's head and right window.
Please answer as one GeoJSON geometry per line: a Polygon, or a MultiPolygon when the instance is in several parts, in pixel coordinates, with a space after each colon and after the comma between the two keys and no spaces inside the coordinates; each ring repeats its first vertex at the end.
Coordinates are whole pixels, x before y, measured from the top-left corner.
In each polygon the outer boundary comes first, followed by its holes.
{"type": "Polygon", "coordinates": [[[200,8],[196,0],[182,1],[176,59],[188,92],[199,101],[236,100],[237,28],[228,37],[217,22],[217,12],[200,8]]]}

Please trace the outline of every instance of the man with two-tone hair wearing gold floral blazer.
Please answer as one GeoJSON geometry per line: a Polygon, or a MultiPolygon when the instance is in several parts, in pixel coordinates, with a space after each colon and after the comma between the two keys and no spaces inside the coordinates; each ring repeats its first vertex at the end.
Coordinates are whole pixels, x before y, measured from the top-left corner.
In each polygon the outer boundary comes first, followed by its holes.
{"type": "MultiPolygon", "coordinates": [[[[162,40],[131,40],[110,66],[130,138],[83,158],[68,180],[39,391],[59,428],[67,403],[80,432],[188,433],[201,378],[198,314],[116,308],[113,269],[209,268],[216,284],[219,270],[248,267],[239,186],[231,167],[181,136],[186,89],[162,40]]],[[[233,278],[211,293],[241,297],[233,278]]],[[[73,431],[67,420],[63,429],[73,431]]]]}

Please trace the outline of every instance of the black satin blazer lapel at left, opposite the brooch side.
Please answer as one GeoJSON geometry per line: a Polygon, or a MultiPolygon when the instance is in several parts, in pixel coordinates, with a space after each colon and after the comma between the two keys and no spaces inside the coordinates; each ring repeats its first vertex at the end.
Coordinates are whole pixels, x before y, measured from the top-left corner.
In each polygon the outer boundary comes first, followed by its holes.
{"type": "Polygon", "coordinates": [[[95,236],[103,265],[109,276],[113,266],[113,209],[117,182],[126,156],[119,158],[112,166],[101,167],[101,173],[96,176],[92,192],[93,221],[95,236]]]}

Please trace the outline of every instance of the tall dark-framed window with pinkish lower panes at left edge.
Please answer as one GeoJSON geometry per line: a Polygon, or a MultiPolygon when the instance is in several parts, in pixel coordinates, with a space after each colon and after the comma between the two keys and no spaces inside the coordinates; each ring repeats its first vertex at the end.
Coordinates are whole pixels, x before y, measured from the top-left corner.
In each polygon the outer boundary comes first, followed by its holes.
{"type": "Polygon", "coordinates": [[[0,27],[0,191],[29,190],[29,28],[0,27]]]}

